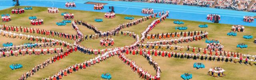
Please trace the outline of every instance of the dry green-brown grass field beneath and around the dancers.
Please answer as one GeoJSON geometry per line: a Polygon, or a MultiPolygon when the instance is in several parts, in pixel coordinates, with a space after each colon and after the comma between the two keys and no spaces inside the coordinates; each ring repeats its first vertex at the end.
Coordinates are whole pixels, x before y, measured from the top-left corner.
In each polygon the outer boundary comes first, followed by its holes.
{"type": "MultiPolygon", "coordinates": [[[[24,7],[24,6],[21,6],[24,7]]],[[[15,7],[12,7],[15,8],[15,7]]],[[[8,13],[11,15],[10,22],[0,22],[1,24],[5,24],[8,26],[25,26],[31,28],[40,28],[44,30],[52,30],[56,32],[63,32],[68,34],[76,34],[76,31],[72,29],[71,23],[68,23],[66,26],[57,26],[56,22],[60,22],[63,20],[63,16],[60,14],[62,12],[69,12],[74,14],[74,20],[83,20],[84,22],[88,22],[89,24],[94,25],[101,31],[112,30],[116,28],[119,24],[130,22],[132,20],[125,20],[125,16],[130,15],[122,15],[116,14],[116,18],[114,19],[105,19],[104,13],[101,12],[88,12],[88,11],[80,11],[80,10],[66,10],[66,9],[59,9],[59,13],[57,14],[50,14],[47,12],[47,8],[44,7],[33,7],[33,10],[25,10],[24,14],[11,14],[10,11],[12,8],[8,8],[5,10],[0,10],[0,14],[8,13]],[[43,19],[44,24],[41,26],[31,26],[30,20],[28,19],[29,16],[37,16],[37,18],[43,19]],[[102,18],[103,22],[94,22],[95,18],[102,18]]],[[[134,16],[135,19],[141,18],[142,16],[134,16]]],[[[153,19],[152,19],[153,20],[153,19]]],[[[138,25],[131,26],[130,28],[122,29],[121,31],[130,31],[135,32],[139,36],[144,29],[152,22],[152,20],[147,20],[146,22],[142,22],[138,25]]],[[[164,22],[158,24],[151,32],[155,33],[166,33],[166,32],[181,32],[181,30],[175,30],[175,26],[188,26],[188,30],[185,31],[207,31],[208,39],[215,39],[219,40],[221,44],[224,46],[224,50],[232,51],[232,52],[240,52],[243,54],[251,54],[256,55],[256,44],[253,43],[254,39],[244,39],[242,38],[243,35],[252,35],[256,36],[256,27],[245,26],[245,32],[238,32],[237,36],[227,36],[226,34],[231,31],[230,24],[214,24],[214,23],[207,23],[207,22],[195,22],[195,21],[186,21],[182,20],[185,24],[177,25],[173,24],[172,19],[167,19],[164,22]],[[208,28],[199,28],[199,24],[208,24],[208,28]],[[244,43],[248,45],[248,48],[236,48],[238,43],[244,43]]],[[[84,35],[95,34],[92,30],[85,28],[84,26],[79,25],[80,30],[83,32],[84,35]]],[[[20,33],[20,32],[19,32],[20,33]]],[[[44,36],[40,34],[30,34],[24,33],[22,34],[29,34],[34,36],[44,36]]],[[[59,40],[65,40],[67,42],[73,43],[74,40],[67,40],[58,37],[50,37],[48,38],[55,38],[59,40]]],[[[16,38],[6,38],[0,36],[0,46],[2,47],[3,43],[12,42],[15,45],[24,44],[30,42],[28,40],[20,40],[16,38]]],[[[132,44],[135,42],[133,38],[130,36],[115,36],[114,39],[114,47],[123,47],[132,44]]],[[[170,38],[169,38],[170,39],[170,38]]],[[[82,45],[88,48],[94,49],[104,49],[106,47],[100,46],[100,39],[95,40],[85,40],[81,42],[82,45]]],[[[146,40],[147,41],[157,41],[154,40],[146,40]]],[[[189,42],[185,44],[178,44],[179,46],[194,46],[200,48],[206,48],[205,40],[189,42]]],[[[184,48],[184,52],[185,52],[184,48]]],[[[25,72],[31,70],[37,64],[44,62],[46,59],[54,56],[52,55],[40,55],[40,56],[18,56],[14,57],[11,56],[9,58],[0,58],[0,79],[1,80],[16,80],[25,72]],[[11,70],[9,68],[10,64],[22,64],[24,67],[11,70]]],[[[148,61],[143,58],[142,56],[134,56],[134,55],[127,55],[128,58],[134,60],[138,65],[142,66],[145,70],[152,74],[156,74],[153,66],[148,64],[148,61]]],[[[60,69],[64,69],[67,66],[72,64],[81,63],[85,60],[89,60],[94,58],[94,55],[86,55],[80,52],[74,52],[58,62],[49,65],[48,67],[36,72],[35,75],[28,78],[28,80],[40,80],[42,78],[46,78],[48,76],[52,76],[56,74],[60,69]]],[[[193,75],[192,80],[256,80],[255,71],[256,66],[247,66],[245,64],[235,64],[231,62],[214,62],[214,61],[205,61],[205,60],[188,60],[188,59],[178,59],[178,58],[167,58],[167,57],[160,57],[160,56],[153,56],[153,60],[155,60],[159,66],[161,67],[161,79],[162,80],[182,80],[180,78],[181,74],[184,73],[191,73],[193,75]],[[194,62],[202,62],[205,64],[204,69],[196,69],[193,68],[194,62]],[[226,70],[226,75],[224,77],[211,77],[207,75],[209,68],[221,66],[226,70]]],[[[142,80],[138,78],[138,74],[131,71],[129,66],[126,66],[122,63],[122,61],[117,57],[113,56],[108,60],[100,62],[94,66],[88,67],[84,70],[79,70],[73,74],[63,77],[64,80],[103,80],[100,76],[104,73],[110,73],[112,76],[111,80],[142,80]]]]}

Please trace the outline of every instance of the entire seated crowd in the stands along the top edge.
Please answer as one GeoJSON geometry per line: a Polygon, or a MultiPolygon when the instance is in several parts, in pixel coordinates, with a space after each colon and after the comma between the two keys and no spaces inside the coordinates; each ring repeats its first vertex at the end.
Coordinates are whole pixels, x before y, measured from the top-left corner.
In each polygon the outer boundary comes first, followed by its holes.
{"type": "MultiPolygon", "coordinates": [[[[121,0],[121,1],[141,1],[148,2],[148,0],[121,0]]],[[[180,4],[181,0],[149,0],[151,3],[164,4],[180,4]]],[[[212,7],[216,0],[183,0],[183,5],[194,5],[202,7],[212,7]]],[[[215,8],[232,9],[232,10],[246,10],[252,0],[217,0],[215,8]]],[[[249,12],[256,12],[256,1],[248,9],[249,12]]]]}

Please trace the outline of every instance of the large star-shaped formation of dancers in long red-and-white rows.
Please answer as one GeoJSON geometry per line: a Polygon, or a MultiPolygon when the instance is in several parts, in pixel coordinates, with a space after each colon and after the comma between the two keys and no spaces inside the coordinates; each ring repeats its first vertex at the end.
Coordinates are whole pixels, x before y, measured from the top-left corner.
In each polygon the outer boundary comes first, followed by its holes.
{"type": "MultiPolygon", "coordinates": [[[[98,30],[96,27],[92,26],[91,24],[85,23],[81,20],[74,20],[72,22],[72,27],[74,28],[74,30],[76,30],[77,34],[76,35],[72,35],[72,34],[66,34],[66,33],[62,33],[62,32],[54,32],[54,31],[49,31],[49,30],[40,30],[40,29],[34,29],[34,28],[26,28],[26,27],[13,27],[13,26],[2,26],[2,29],[0,30],[1,35],[2,36],[6,36],[8,38],[20,38],[20,39],[27,39],[27,40],[31,40],[31,41],[36,41],[36,42],[40,42],[40,43],[36,43],[35,45],[44,45],[44,47],[46,46],[53,46],[53,45],[57,45],[57,46],[63,46],[66,48],[66,50],[63,50],[62,47],[60,48],[47,48],[47,49],[19,49],[19,50],[10,50],[10,52],[2,52],[1,54],[7,55],[9,56],[9,54],[11,55],[15,55],[18,56],[18,54],[22,54],[22,55],[31,55],[31,54],[36,54],[36,55],[40,55],[40,54],[56,54],[55,56],[53,56],[52,58],[49,58],[47,60],[45,60],[45,62],[43,62],[42,64],[38,64],[36,65],[34,68],[32,68],[32,70],[26,72],[25,74],[23,74],[19,80],[26,80],[26,78],[28,78],[29,76],[33,76],[38,70],[41,70],[42,68],[47,67],[49,64],[54,64],[54,62],[64,59],[66,56],[68,56],[69,54],[71,54],[73,51],[80,51],[82,53],[89,53],[89,54],[96,54],[98,55],[97,57],[90,59],[90,60],[86,60],[84,62],[80,62],[79,64],[73,64],[73,66],[70,66],[68,68],[62,69],[59,72],[57,72],[56,74],[54,74],[54,76],[50,76],[49,78],[45,78],[46,80],[51,80],[51,79],[61,79],[62,76],[67,76],[68,74],[71,74],[73,71],[78,71],[78,70],[82,70],[82,69],[86,69],[86,67],[89,66],[93,66],[96,65],[97,63],[100,63],[108,58],[111,58],[112,56],[118,56],[118,58],[120,58],[120,60],[122,60],[126,65],[129,65],[132,70],[136,73],[138,73],[140,75],[141,78],[146,78],[146,79],[151,79],[151,80],[160,80],[160,66],[158,66],[158,64],[152,60],[152,55],[154,56],[166,56],[166,57],[176,57],[177,56],[183,56],[184,54],[177,54],[177,52],[168,52],[168,51],[161,51],[161,50],[154,50],[154,47],[171,47],[171,49],[173,47],[175,47],[175,49],[177,50],[178,48],[180,48],[180,50],[182,50],[182,48],[184,48],[184,46],[174,46],[172,44],[177,44],[177,42],[181,42],[181,43],[186,43],[186,42],[192,42],[192,41],[197,41],[197,40],[201,40],[204,38],[207,38],[208,33],[207,32],[202,32],[202,31],[195,31],[195,32],[184,32],[184,34],[182,35],[181,33],[175,33],[174,34],[170,34],[170,33],[163,33],[162,35],[160,34],[155,34],[155,35],[149,35],[149,32],[159,23],[161,23],[162,21],[164,21],[166,19],[166,17],[168,17],[169,12],[165,12],[165,14],[163,14],[162,16],[159,16],[159,18],[153,20],[148,27],[141,33],[141,37],[138,36],[138,34],[135,34],[134,32],[121,32],[122,36],[131,36],[132,38],[134,38],[136,41],[129,45],[129,46],[124,46],[121,48],[106,48],[105,50],[97,50],[97,49],[89,49],[86,48],[86,46],[83,46],[80,44],[80,42],[87,40],[88,36],[84,36],[84,34],[80,31],[80,29],[78,28],[78,25],[82,25],[82,26],[86,26],[87,28],[90,28],[91,30],[93,30],[96,34],[95,35],[90,35],[90,39],[95,39],[95,38],[106,38],[107,36],[115,36],[115,35],[119,35],[120,34],[120,30],[126,27],[130,27],[136,24],[139,24],[141,22],[144,22],[148,19],[152,19],[155,18],[157,16],[158,13],[155,14],[151,14],[149,16],[145,16],[143,18],[134,20],[132,22],[128,22],[126,24],[120,24],[118,27],[116,27],[113,30],[109,30],[107,32],[101,32],[100,30],[98,30]],[[55,37],[59,37],[59,38],[65,38],[65,39],[70,39],[70,40],[75,40],[74,43],[69,43],[63,40],[58,40],[58,39],[54,39],[54,38],[46,38],[46,37],[40,37],[40,36],[31,36],[31,35],[26,35],[26,34],[17,34],[16,32],[29,32],[31,34],[42,34],[42,35],[46,35],[46,36],[55,36],[55,37]],[[194,35],[192,33],[195,33],[194,35]],[[197,34],[196,34],[197,33],[197,34]],[[178,36],[176,36],[176,34],[178,34],[178,36]],[[157,36],[156,36],[157,35],[157,36]],[[84,39],[85,37],[85,39],[84,39]],[[164,41],[155,41],[155,42],[147,42],[147,44],[143,44],[143,42],[146,39],[154,39],[154,38],[170,38],[170,37],[176,37],[177,39],[170,39],[170,40],[164,40],[164,41]],[[157,43],[157,46],[154,46],[155,43],[157,43]],[[46,45],[46,46],[45,46],[46,45]],[[140,47],[142,46],[142,47],[140,47]],[[153,48],[152,48],[153,46],[153,48]],[[145,47],[149,48],[148,50],[145,49],[145,47]],[[142,49],[143,48],[143,49],[142,49]],[[152,49],[152,50],[150,50],[152,49]],[[146,70],[144,70],[142,67],[139,67],[139,65],[136,64],[135,61],[129,59],[128,57],[126,57],[126,55],[128,55],[130,53],[132,53],[133,55],[135,54],[140,54],[142,56],[144,56],[148,62],[150,64],[153,65],[153,67],[156,70],[156,75],[152,75],[149,72],[147,72],[146,70]]],[[[30,45],[34,45],[34,44],[30,44],[30,45]]],[[[21,46],[29,46],[29,45],[21,45],[21,46]]],[[[12,48],[15,46],[10,46],[9,48],[12,48]]],[[[18,46],[16,46],[18,47],[18,46]]],[[[188,46],[190,48],[192,48],[191,46],[188,46]]],[[[5,47],[7,48],[7,47],[5,47]]],[[[193,52],[194,52],[194,47],[193,47],[193,52]]],[[[204,53],[206,53],[206,50],[204,50],[204,53]]],[[[211,51],[210,51],[211,52],[211,51]]],[[[222,52],[222,51],[218,51],[218,52],[222,52]]],[[[228,53],[229,54],[229,53],[228,53]]],[[[186,56],[191,57],[191,56],[205,56],[207,54],[202,54],[200,55],[198,54],[189,54],[189,53],[185,53],[185,58],[186,56]]],[[[218,55],[217,51],[216,51],[216,56],[218,55]]],[[[240,54],[242,55],[242,54],[240,54]]],[[[210,55],[212,56],[212,55],[210,55]]],[[[230,56],[224,56],[226,58],[229,58],[230,56]]],[[[179,58],[179,57],[178,57],[179,58]]]]}

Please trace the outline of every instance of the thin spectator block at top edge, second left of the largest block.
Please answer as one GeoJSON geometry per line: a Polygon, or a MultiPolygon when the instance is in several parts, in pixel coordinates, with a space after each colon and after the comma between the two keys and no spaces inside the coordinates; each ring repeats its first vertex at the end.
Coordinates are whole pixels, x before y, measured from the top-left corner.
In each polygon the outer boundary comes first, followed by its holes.
{"type": "Polygon", "coordinates": [[[150,0],[152,3],[180,4],[180,0],[150,0]]]}

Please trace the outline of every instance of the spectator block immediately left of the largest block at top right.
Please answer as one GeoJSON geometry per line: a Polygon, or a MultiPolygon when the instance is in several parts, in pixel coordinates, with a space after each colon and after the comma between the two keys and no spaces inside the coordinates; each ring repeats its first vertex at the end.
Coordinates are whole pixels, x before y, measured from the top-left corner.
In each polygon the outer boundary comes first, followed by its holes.
{"type": "Polygon", "coordinates": [[[183,5],[196,5],[201,7],[212,7],[215,0],[184,0],[183,5]]]}

